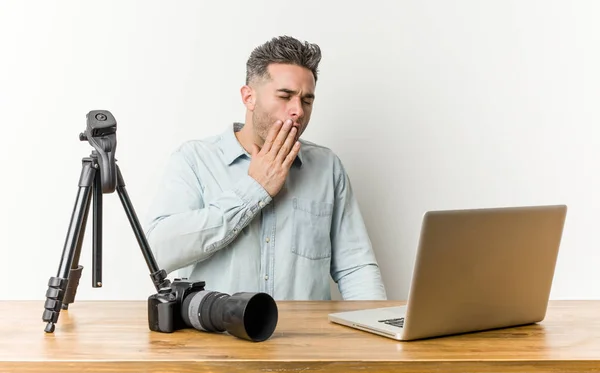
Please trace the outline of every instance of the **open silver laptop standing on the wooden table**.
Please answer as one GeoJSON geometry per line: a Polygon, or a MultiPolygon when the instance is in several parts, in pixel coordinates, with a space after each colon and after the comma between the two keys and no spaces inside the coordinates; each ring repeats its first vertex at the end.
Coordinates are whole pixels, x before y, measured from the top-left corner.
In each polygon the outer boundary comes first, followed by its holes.
{"type": "Polygon", "coordinates": [[[540,322],[566,213],[565,205],[429,211],[406,305],[329,321],[399,341],[540,322]]]}

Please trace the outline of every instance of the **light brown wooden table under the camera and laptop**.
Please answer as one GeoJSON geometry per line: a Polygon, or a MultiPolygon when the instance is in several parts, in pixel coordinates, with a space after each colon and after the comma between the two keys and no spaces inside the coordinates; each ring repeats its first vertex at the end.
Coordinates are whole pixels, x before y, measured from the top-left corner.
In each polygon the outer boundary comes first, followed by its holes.
{"type": "Polygon", "coordinates": [[[331,324],[402,302],[279,302],[265,342],[151,332],[146,303],[76,301],[44,333],[43,301],[0,302],[0,372],[600,372],[600,301],[552,301],[536,325],[413,342],[331,324]]]}

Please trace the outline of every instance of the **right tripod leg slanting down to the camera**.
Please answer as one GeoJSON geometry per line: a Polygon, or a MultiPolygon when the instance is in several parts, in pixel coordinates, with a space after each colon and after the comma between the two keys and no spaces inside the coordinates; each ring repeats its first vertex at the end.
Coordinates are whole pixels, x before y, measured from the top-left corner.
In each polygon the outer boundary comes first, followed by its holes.
{"type": "Polygon", "coordinates": [[[150,269],[150,277],[152,278],[152,282],[154,283],[156,289],[160,290],[163,286],[168,285],[168,280],[166,280],[167,273],[164,269],[160,269],[158,267],[156,259],[152,254],[152,250],[150,249],[150,245],[146,240],[146,235],[144,234],[142,225],[140,224],[137,214],[135,213],[135,209],[133,208],[133,204],[129,199],[127,189],[125,189],[125,181],[123,180],[123,175],[121,174],[119,165],[117,165],[117,194],[119,195],[121,204],[125,209],[125,214],[127,214],[131,228],[133,229],[138,244],[140,245],[142,255],[144,256],[146,264],[150,269]]]}

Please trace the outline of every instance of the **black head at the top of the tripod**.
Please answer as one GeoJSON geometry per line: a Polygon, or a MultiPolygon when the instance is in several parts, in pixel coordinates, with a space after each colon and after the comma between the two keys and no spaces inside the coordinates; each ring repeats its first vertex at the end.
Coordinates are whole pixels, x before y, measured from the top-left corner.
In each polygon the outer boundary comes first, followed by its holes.
{"type": "Polygon", "coordinates": [[[79,140],[94,147],[92,157],[97,157],[100,164],[102,193],[112,193],[117,186],[117,120],[108,110],[92,110],[86,118],[87,126],[79,134],[79,140]]]}

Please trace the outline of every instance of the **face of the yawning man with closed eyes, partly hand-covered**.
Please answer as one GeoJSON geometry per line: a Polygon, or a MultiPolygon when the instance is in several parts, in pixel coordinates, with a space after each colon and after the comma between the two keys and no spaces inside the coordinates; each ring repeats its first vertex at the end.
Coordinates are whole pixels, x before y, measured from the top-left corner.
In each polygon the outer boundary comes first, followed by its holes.
{"type": "Polygon", "coordinates": [[[276,120],[292,119],[299,138],[310,120],[315,97],[315,79],[309,69],[271,64],[268,71],[271,78],[254,85],[256,101],[252,123],[259,146],[276,120]]]}

